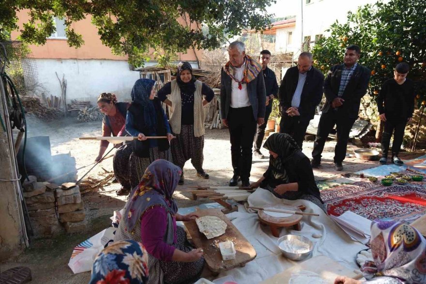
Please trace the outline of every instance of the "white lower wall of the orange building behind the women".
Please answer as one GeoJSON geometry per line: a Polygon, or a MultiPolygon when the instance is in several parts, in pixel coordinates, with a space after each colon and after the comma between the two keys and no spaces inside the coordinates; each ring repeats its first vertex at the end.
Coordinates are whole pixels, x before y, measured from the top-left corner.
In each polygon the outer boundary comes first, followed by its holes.
{"type": "MultiPolygon", "coordinates": [[[[61,96],[60,79],[65,75],[67,83],[67,103],[72,99],[91,101],[96,100],[101,93],[114,93],[119,101],[130,100],[130,92],[139,72],[129,69],[127,61],[119,60],[77,60],[77,59],[34,59],[38,73],[37,95],[61,96]]],[[[147,62],[145,67],[157,64],[147,62]]],[[[194,68],[196,63],[191,62],[194,68]]]]}

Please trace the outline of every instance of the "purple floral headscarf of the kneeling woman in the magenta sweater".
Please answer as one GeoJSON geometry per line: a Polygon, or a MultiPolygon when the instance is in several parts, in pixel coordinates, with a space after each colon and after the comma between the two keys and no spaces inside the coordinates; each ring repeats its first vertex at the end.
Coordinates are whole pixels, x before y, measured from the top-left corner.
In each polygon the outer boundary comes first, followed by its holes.
{"type": "Polygon", "coordinates": [[[173,192],[178,186],[182,170],[171,162],[158,159],[145,170],[142,180],[130,192],[124,207],[126,229],[132,231],[142,214],[155,205],[164,207],[172,215],[178,211],[173,192]]]}

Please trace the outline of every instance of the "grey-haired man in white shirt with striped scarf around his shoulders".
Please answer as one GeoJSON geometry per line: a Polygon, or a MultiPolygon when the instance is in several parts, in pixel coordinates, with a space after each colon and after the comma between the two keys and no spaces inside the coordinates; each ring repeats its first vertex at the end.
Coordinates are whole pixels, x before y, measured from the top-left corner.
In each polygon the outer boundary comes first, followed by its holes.
{"type": "Polygon", "coordinates": [[[265,118],[265,82],[262,65],[245,54],[242,42],[232,42],[228,54],[229,61],[221,71],[220,104],[222,123],[229,128],[234,169],[229,186],[236,186],[241,177],[242,186],[247,187],[256,123],[262,125],[265,118]]]}

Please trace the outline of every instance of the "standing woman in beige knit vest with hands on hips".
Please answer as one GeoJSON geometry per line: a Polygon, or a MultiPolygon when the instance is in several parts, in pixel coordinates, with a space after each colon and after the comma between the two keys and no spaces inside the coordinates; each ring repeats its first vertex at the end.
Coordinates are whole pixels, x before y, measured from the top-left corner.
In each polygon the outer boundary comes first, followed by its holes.
{"type": "MultiPolygon", "coordinates": [[[[176,139],[171,143],[173,163],[183,169],[185,162],[191,163],[197,175],[209,178],[203,170],[204,109],[214,97],[213,90],[195,79],[188,62],[178,64],[177,77],[158,91],[158,98],[171,107],[170,126],[176,139]],[[203,99],[203,95],[206,96],[203,99]]],[[[183,184],[183,173],[179,184],[183,184]]]]}

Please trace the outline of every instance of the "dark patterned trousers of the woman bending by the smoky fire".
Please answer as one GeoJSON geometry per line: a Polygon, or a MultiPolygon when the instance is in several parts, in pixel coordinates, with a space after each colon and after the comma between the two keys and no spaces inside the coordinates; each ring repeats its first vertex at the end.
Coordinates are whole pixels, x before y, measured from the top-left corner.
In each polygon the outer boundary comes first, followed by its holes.
{"type": "Polygon", "coordinates": [[[129,162],[132,154],[132,144],[124,144],[115,151],[112,158],[115,178],[120,182],[123,188],[131,189],[129,178],[129,162]]]}

